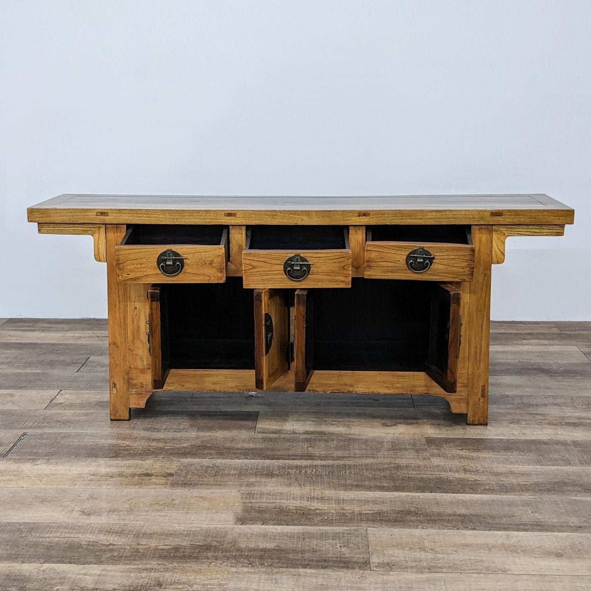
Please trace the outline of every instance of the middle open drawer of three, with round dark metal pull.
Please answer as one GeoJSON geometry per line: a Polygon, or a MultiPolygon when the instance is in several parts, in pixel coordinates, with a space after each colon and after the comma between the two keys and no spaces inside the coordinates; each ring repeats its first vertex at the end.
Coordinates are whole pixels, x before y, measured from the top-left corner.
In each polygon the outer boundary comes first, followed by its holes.
{"type": "Polygon", "coordinates": [[[252,226],[242,252],[249,288],[349,287],[351,250],[342,226],[252,226]]]}

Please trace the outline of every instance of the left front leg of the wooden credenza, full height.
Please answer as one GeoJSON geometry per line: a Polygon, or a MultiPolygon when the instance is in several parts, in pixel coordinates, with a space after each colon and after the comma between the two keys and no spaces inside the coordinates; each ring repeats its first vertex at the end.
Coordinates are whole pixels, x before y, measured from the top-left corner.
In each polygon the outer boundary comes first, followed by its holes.
{"type": "Polygon", "coordinates": [[[109,411],[112,421],[128,421],[129,379],[125,355],[125,284],[117,281],[115,246],[125,235],[125,226],[106,227],[107,300],[109,314],[109,411]]]}

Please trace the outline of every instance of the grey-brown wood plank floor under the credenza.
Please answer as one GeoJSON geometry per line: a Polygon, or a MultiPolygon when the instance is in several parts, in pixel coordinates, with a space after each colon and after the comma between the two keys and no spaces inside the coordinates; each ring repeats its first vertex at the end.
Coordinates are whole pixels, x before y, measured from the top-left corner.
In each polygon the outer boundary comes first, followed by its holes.
{"type": "Polygon", "coordinates": [[[0,589],[591,589],[591,323],[492,324],[488,427],[210,392],[111,423],[106,342],[0,319],[0,589]]]}

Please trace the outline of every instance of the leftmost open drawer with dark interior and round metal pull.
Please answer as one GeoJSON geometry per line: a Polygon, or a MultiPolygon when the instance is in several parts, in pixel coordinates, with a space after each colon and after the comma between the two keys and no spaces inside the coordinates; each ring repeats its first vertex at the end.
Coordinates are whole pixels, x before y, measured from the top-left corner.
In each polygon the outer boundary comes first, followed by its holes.
{"type": "Polygon", "coordinates": [[[129,226],[115,247],[117,278],[135,283],[223,283],[225,226],[129,226]]]}

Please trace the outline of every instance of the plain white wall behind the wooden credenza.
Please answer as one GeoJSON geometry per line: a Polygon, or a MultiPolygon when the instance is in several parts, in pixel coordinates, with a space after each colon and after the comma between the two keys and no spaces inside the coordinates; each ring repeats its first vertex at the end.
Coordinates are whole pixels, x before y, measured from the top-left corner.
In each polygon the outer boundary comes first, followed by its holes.
{"type": "Polygon", "coordinates": [[[492,316],[591,320],[590,31],[589,0],[3,0],[0,317],[106,315],[92,239],[26,222],[59,193],[535,191],[576,225],[508,239],[492,316]]]}

